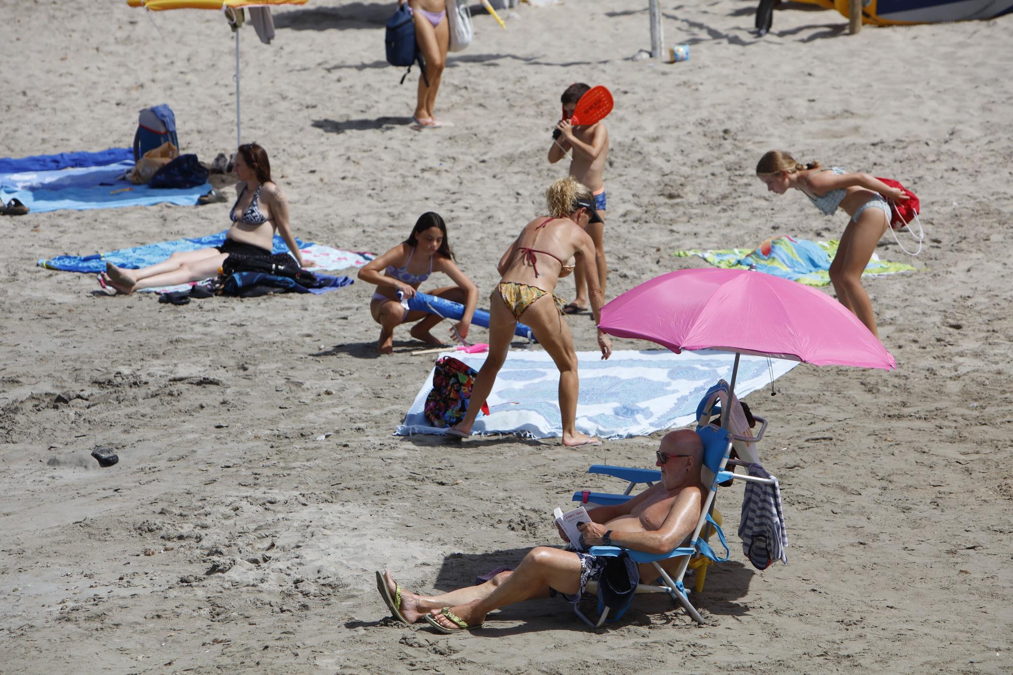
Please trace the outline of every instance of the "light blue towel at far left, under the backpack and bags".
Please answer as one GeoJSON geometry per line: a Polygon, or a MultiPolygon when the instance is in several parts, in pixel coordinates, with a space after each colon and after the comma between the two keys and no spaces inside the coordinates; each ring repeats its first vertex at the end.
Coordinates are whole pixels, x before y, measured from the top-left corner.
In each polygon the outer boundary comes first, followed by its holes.
{"type": "Polygon", "coordinates": [[[129,159],[103,166],[0,173],[0,197],[4,202],[17,198],[33,213],[43,213],[162,203],[194,206],[199,197],[211,191],[208,182],[196,188],[161,190],[120,179],[133,167],[134,160],[129,159]]]}

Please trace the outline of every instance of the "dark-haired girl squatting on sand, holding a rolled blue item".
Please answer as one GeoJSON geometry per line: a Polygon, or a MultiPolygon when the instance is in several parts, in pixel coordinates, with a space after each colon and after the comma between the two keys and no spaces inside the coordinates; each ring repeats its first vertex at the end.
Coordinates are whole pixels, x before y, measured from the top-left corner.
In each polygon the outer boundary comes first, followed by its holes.
{"type": "Polygon", "coordinates": [[[418,217],[407,239],[359,271],[360,279],[377,286],[377,292],[370,300],[373,320],[380,324],[377,352],[390,354],[394,350],[394,327],[410,321],[418,321],[411,326],[412,338],[430,345],[443,345],[430,332],[443,318],[428,312],[409,311],[402,304],[402,298],[407,302],[418,290],[419,284],[434,272],[444,273],[457,286],[443,286],[428,291],[428,294],[464,305],[461,320],[451,330],[456,330],[462,339],[468,336],[471,316],[478,305],[478,289],[457,267],[455,259],[447,238],[447,223],[440,214],[431,211],[418,217]]]}

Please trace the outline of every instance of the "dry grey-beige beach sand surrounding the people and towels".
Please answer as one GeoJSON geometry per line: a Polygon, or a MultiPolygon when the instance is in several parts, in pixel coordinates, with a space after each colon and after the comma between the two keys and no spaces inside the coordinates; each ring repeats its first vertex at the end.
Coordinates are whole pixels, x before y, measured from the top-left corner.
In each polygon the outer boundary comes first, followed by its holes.
{"type": "MultiPolygon", "coordinates": [[[[409,356],[406,328],[375,358],[369,285],[185,307],[97,297],[92,277],[35,259],[211,233],[227,205],[29,214],[0,218],[0,670],[1013,669],[1013,17],[848,36],[836,12],[789,5],[757,40],[752,2],[666,1],[667,43],[692,58],[665,65],[630,59],[649,46],[645,5],[525,5],[506,31],[476,9],[439,99],[456,127],[425,133],[406,126],[415,76],[398,86],[384,64],[392,3],[279,10],[274,45],[244,29],[244,139],[270,152],[304,239],[382,252],[442,213],[483,303],[565,170],[544,157],[573,81],[616,97],[610,297],[703,265],[675,249],[838,236],[843,215],[765,193],[765,150],[912,186],[929,237],[918,272],[866,282],[897,372],[803,365],[748,399],[772,422],[790,564],[745,561],[736,488],[722,498],[732,560],[697,598],[706,625],[665,598],[601,634],[560,600],[468,635],[392,622],[375,570],[430,592],[516,564],[557,541],[549,514],[574,488],[615,486],[590,463],[647,465],[657,438],[572,451],[393,437],[432,360],[409,356]],[[114,467],[89,457],[103,445],[114,467]]],[[[0,6],[0,155],[124,146],[160,102],[184,150],[232,147],[220,16],[0,6]]],[[[908,259],[888,235],[878,250],[908,259]]],[[[592,322],[571,325],[594,349],[592,322]]]]}

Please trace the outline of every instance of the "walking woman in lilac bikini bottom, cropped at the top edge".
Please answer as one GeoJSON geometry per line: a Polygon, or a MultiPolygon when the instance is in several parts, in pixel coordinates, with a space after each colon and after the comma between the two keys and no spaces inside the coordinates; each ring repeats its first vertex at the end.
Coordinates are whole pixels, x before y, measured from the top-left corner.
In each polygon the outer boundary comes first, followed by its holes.
{"type": "MultiPolygon", "coordinates": [[[[398,6],[406,0],[398,0],[398,6]]],[[[425,59],[425,69],[418,76],[418,100],[411,119],[412,129],[434,129],[453,127],[451,122],[437,120],[434,108],[437,91],[447,65],[447,51],[450,49],[450,21],[447,18],[446,0],[407,0],[408,11],[415,22],[415,41],[425,59]]]]}

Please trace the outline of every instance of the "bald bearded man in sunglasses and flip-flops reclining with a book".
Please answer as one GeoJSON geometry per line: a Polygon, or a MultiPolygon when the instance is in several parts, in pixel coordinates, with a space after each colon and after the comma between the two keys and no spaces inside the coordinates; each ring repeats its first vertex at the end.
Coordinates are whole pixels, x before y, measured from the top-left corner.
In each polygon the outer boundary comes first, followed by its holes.
{"type": "MultiPolygon", "coordinates": [[[[625,504],[601,506],[588,512],[593,522],[580,526],[583,546],[613,545],[648,553],[668,553],[693,533],[700,519],[706,489],[700,482],[703,446],[700,437],[683,430],[668,434],[655,452],[661,480],[625,504]]],[[[560,530],[560,537],[565,535],[560,530]]],[[[502,572],[480,586],[444,595],[423,596],[398,586],[390,573],[377,572],[377,588],[393,615],[405,623],[424,619],[441,632],[457,632],[482,625],[493,609],[531,600],[563,595],[579,600],[590,581],[598,581],[608,558],[538,546],[531,549],[517,570],[502,572]]],[[[681,558],[661,562],[674,573],[681,558]]],[[[657,576],[652,565],[640,565],[644,579],[657,576]]]]}

